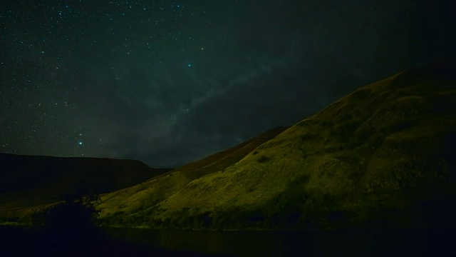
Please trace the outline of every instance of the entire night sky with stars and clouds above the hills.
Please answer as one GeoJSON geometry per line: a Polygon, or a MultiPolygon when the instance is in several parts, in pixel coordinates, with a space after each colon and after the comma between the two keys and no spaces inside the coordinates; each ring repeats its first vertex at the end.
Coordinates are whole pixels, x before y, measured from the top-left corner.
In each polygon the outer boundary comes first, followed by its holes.
{"type": "Polygon", "coordinates": [[[176,167],[455,53],[451,1],[6,0],[0,152],[176,167]]]}

